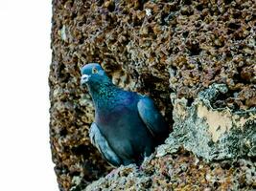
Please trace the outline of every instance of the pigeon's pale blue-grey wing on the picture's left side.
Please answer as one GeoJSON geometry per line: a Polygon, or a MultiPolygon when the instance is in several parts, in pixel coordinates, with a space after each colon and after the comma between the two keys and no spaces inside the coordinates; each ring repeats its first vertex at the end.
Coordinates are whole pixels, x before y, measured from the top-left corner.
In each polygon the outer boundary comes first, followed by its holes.
{"type": "Polygon", "coordinates": [[[94,122],[91,124],[89,136],[92,144],[97,147],[107,162],[113,166],[121,165],[121,159],[114,153],[107,140],[100,132],[98,126],[94,122]]]}

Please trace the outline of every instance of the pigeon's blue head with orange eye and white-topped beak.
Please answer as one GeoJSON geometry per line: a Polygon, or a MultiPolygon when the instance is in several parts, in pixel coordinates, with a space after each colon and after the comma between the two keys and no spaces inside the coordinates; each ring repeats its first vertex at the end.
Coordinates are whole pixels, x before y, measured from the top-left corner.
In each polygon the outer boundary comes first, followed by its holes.
{"type": "Polygon", "coordinates": [[[81,68],[81,85],[97,87],[101,84],[111,83],[104,69],[98,63],[89,63],[81,68]]]}

